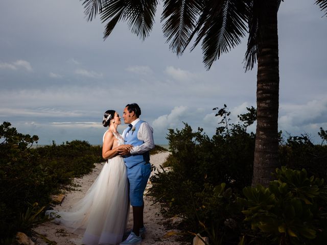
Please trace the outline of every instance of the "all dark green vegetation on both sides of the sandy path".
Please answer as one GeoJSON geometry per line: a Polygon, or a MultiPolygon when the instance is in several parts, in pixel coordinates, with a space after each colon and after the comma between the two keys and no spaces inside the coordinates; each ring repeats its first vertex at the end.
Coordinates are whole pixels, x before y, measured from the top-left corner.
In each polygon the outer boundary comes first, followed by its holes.
{"type": "MultiPolygon", "coordinates": [[[[226,108],[225,108],[226,109],[226,108]]],[[[151,195],[161,214],[178,218],[176,229],[191,242],[196,234],[218,244],[323,244],[327,239],[327,132],[320,144],[307,135],[279,138],[279,165],[268,187],[251,187],[255,110],[229,112],[209,138],[188,124],[167,135],[169,170],[157,168],[151,195]]],[[[37,136],[24,135],[9,122],[0,126],[0,243],[13,244],[17,231],[46,222],[50,195],[74,189],[72,181],[103,162],[101,146],[73,140],[33,148],[37,136]]],[[[151,154],[167,151],[156,145],[151,154]]],[[[173,235],[173,234],[171,234],[173,235]]]]}

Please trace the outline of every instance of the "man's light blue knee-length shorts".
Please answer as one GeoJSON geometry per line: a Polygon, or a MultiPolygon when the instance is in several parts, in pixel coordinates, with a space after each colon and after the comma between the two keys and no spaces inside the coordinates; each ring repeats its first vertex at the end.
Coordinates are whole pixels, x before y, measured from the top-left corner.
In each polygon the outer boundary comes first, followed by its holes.
{"type": "Polygon", "coordinates": [[[151,164],[149,162],[138,163],[131,168],[127,168],[129,199],[133,207],[143,206],[143,193],[150,174],[151,164]]]}

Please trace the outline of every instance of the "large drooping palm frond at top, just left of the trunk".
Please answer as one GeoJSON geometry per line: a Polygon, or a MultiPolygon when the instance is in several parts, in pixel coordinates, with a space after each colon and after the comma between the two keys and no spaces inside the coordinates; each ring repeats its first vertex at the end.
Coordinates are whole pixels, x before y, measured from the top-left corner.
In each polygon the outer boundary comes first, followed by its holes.
{"type": "Polygon", "coordinates": [[[202,40],[203,63],[210,69],[222,53],[240,44],[247,31],[247,5],[239,0],[209,0],[196,24],[198,36],[191,51],[202,40]]]}

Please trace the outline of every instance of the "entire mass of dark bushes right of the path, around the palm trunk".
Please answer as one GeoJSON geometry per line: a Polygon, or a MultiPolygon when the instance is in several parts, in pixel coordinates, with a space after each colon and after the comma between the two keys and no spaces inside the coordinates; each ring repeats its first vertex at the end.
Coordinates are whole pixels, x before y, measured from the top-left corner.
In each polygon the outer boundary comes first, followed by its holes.
{"type": "Polygon", "coordinates": [[[280,164],[296,170],[278,169],[269,188],[244,188],[253,173],[255,135],[246,129],[255,109],[247,108],[240,124],[230,123],[226,105],[214,109],[221,120],[212,138],[186,123],[169,130],[171,155],[164,165],[170,170],[151,177],[150,194],[162,212],[182,217],[180,229],[209,236],[211,244],[324,244],[327,133],[320,129],[320,145],[305,136],[281,140],[280,164]]]}

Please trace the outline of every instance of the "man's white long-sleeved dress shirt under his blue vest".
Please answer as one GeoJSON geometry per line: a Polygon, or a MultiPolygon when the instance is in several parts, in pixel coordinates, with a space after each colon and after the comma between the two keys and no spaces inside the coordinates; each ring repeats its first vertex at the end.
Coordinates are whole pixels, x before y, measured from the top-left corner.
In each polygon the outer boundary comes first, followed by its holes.
{"type": "MultiPolygon", "coordinates": [[[[136,120],[132,121],[131,122],[132,127],[134,127],[139,120],[140,119],[137,118],[136,120]]],[[[125,136],[126,130],[128,130],[128,128],[124,130],[123,136],[125,136]]],[[[129,131],[127,134],[129,134],[129,133],[131,133],[131,131],[129,131]]],[[[142,153],[148,152],[154,148],[153,129],[148,124],[148,122],[146,122],[146,121],[142,122],[142,124],[139,126],[139,129],[137,132],[137,138],[139,140],[144,141],[144,143],[141,145],[133,146],[132,150],[130,151],[130,154],[132,154],[132,155],[142,154],[142,153]]]]}

